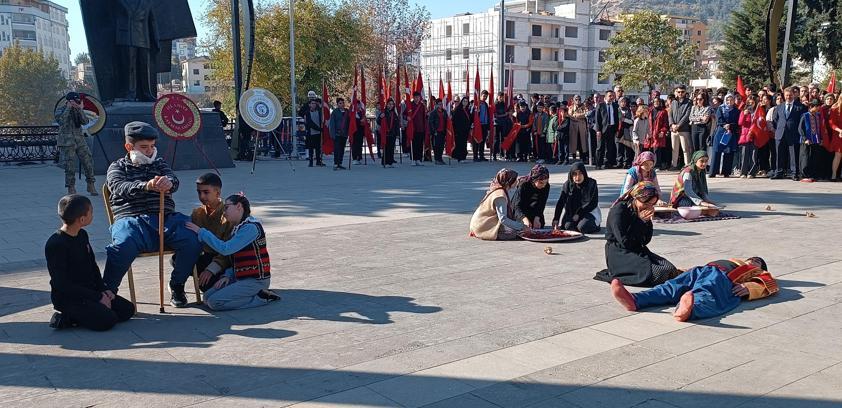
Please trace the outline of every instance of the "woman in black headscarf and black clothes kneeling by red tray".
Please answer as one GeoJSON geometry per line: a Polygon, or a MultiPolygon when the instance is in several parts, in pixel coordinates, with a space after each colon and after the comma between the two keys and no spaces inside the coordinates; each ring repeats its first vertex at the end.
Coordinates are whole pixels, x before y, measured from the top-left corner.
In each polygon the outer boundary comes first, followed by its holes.
{"type": "Polygon", "coordinates": [[[600,222],[593,214],[599,208],[599,189],[596,180],[588,177],[585,163],[577,161],[570,168],[567,181],[555,205],[553,229],[579,231],[583,234],[599,232],[600,222]],[[562,218],[564,211],[564,218],[562,218]]]}

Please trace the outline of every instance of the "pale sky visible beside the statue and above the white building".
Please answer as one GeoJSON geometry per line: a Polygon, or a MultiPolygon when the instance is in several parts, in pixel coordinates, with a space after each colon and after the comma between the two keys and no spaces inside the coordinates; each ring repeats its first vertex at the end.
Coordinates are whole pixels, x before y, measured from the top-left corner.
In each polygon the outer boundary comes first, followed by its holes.
{"type": "MultiPolygon", "coordinates": [[[[208,33],[201,26],[197,16],[201,14],[209,1],[188,0],[190,10],[193,12],[193,19],[196,21],[199,38],[203,38],[208,33]]],[[[88,44],[85,41],[85,32],[82,25],[82,13],[79,9],[79,0],[53,0],[53,2],[68,8],[67,20],[69,24],[68,30],[70,31],[70,55],[72,60],[77,54],[88,51],[88,44]]],[[[434,19],[464,12],[482,12],[498,3],[495,0],[409,0],[409,2],[426,6],[427,10],[430,11],[430,16],[434,19]]]]}

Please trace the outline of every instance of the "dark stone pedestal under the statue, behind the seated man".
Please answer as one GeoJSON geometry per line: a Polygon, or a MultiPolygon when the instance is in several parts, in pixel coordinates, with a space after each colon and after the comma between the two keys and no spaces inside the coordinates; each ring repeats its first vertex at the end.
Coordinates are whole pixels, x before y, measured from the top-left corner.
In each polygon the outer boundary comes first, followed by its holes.
{"type": "MultiPolygon", "coordinates": [[[[94,173],[105,174],[111,162],[126,155],[123,133],[126,123],[141,121],[156,126],[152,116],[153,106],[151,102],[115,102],[105,107],[108,113],[105,127],[94,137],[88,138],[88,147],[94,158],[94,173]]],[[[158,131],[161,134],[155,143],[158,157],[166,160],[173,170],[234,167],[222,132],[222,123],[216,112],[202,112],[202,129],[192,139],[178,140],[176,143],[176,139],[165,135],[160,129],[158,131]],[[205,154],[202,155],[199,149],[205,154]],[[208,163],[205,155],[213,166],[208,163]]]]}

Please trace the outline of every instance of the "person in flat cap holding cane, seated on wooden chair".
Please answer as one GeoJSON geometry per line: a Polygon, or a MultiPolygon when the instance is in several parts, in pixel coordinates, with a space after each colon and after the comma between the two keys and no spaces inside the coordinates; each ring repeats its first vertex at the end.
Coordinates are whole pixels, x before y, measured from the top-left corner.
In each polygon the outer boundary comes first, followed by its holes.
{"type": "Polygon", "coordinates": [[[124,131],[128,154],[111,163],[106,174],[114,224],[111,245],[106,247],[108,259],[103,280],[117,293],[138,254],[158,251],[159,196],[164,192],[164,245],[176,253],[169,284],[170,304],[185,307],[184,283],[193,271],[202,245],[196,234],[184,226],[190,218],[175,211],[172,193],[178,189],[178,178],[164,159],[158,157],[155,148],[158,131],[144,122],[131,122],[124,131]]]}

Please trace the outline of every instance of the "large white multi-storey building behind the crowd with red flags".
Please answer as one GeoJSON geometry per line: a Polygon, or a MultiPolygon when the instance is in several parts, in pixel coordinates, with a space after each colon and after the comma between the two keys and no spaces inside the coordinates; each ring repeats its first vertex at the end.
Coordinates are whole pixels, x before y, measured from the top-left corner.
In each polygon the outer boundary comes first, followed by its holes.
{"type": "MultiPolygon", "coordinates": [[[[567,100],[607,89],[613,75],[600,78],[603,51],[619,26],[591,14],[589,1],[510,1],[506,3],[503,55],[500,10],[433,20],[421,45],[421,69],[434,95],[439,77],[453,92],[466,91],[466,70],[473,89],[479,66],[482,89],[492,69],[495,90],[514,75],[514,93],[546,94],[567,100]],[[500,61],[506,74],[499,78],[500,61]],[[429,81],[429,82],[428,82],[429,81]]],[[[471,91],[472,92],[472,91],[471,91]]]]}

